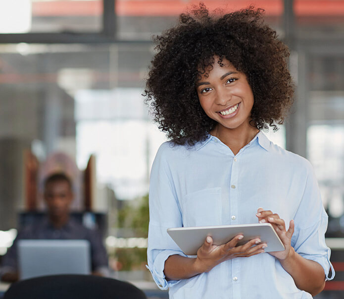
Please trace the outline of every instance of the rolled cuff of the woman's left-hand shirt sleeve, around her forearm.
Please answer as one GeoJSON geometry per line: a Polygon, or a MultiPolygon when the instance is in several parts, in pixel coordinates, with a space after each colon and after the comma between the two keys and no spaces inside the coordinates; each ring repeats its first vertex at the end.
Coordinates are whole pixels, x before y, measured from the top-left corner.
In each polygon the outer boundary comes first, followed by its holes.
{"type": "Polygon", "coordinates": [[[163,250],[161,251],[154,259],[153,266],[147,266],[147,269],[150,271],[153,280],[160,290],[167,290],[168,288],[179,283],[180,280],[169,280],[167,281],[164,274],[165,261],[171,255],[181,255],[187,257],[183,252],[176,250],[163,250]]]}

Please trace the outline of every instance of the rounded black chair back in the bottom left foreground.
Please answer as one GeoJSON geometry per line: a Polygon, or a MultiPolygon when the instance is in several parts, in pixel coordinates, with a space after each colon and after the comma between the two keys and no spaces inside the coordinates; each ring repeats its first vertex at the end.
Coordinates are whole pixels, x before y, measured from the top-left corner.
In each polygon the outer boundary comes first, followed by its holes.
{"type": "Polygon", "coordinates": [[[130,283],[94,275],[41,276],[12,284],[3,299],[147,299],[130,283]]]}

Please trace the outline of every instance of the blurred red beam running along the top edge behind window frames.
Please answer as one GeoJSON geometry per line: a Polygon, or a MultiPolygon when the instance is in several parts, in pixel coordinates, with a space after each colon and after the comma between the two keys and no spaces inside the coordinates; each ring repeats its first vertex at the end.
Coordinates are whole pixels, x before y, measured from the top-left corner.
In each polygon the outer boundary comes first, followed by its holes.
{"type": "MultiPolygon", "coordinates": [[[[199,0],[116,0],[116,13],[120,16],[177,16],[199,0]]],[[[283,13],[282,0],[211,0],[207,7],[233,11],[255,3],[264,8],[267,16],[283,13]]],[[[297,16],[344,16],[344,0],[295,0],[297,16]]],[[[102,14],[102,1],[56,0],[32,3],[33,16],[92,16],[102,14]]]]}

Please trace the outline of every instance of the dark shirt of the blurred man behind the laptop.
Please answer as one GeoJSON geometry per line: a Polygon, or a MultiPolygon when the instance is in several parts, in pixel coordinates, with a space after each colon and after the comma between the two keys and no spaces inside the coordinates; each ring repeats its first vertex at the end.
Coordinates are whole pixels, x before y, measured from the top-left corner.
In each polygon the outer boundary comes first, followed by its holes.
{"type": "Polygon", "coordinates": [[[97,230],[90,230],[70,219],[67,224],[60,229],[55,229],[49,222],[48,218],[44,218],[33,225],[26,226],[19,231],[17,237],[13,241],[12,246],[2,258],[1,273],[18,272],[17,261],[17,242],[20,239],[85,239],[91,245],[92,271],[100,272],[106,275],[108,271],[108,260],[105,247],[102,243],[101,236],[97,230]]]}

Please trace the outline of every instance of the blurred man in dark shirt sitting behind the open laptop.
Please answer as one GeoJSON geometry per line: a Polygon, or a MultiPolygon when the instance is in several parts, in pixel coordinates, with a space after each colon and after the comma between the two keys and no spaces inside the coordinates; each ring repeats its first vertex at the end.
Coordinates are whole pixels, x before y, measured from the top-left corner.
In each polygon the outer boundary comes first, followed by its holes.
{"type": "Polygon", "coordinates": [[[72,183],[65,174],[53,174],[46,179],[44,199],[47,216],[19,231],[13,245],[3,256],[0,268],[2,281],[14,282],[19,278],[17,242],[20,239],[86,239],[91,245],[93,274],[108,275],[108,258],[99,232],[70,218],[73,198],[72,183]]]}

